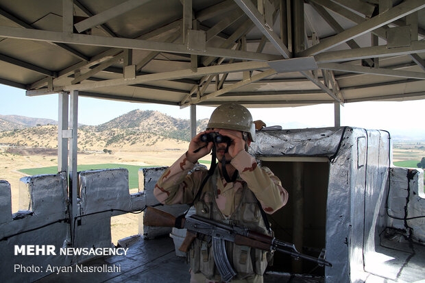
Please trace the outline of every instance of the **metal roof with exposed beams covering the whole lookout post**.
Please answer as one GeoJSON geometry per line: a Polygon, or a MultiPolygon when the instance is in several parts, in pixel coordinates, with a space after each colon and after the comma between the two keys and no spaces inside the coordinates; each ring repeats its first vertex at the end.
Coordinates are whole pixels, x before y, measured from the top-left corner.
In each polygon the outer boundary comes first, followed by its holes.
{"type": "Polygon", "coordinates": [[[424,0],[0,0],[0,83],[216,106],[425,98],[424,0]]]}

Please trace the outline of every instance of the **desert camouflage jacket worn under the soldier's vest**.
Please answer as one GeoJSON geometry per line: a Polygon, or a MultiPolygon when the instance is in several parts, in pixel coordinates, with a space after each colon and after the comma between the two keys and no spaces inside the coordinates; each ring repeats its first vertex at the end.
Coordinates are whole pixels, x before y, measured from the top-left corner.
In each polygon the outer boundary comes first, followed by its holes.
{"type": "MultiPolygon", "coordinates": [[[[244,182],[260,201],[263,210],[272,214],[287,203],[288,193],[267,167],[258,167],[256,160],[247,151],[239,152],[230,162],[239,171],[235,182],[227,183],[219,173],[219,168],[211,178],[217,184],[215,202],[223,216],[230,217],[241,201],[244,182]]],[[[186,153],[175,161],[160,177],[154,188],[154,195],[162,204],[190,204],[199,186],[207,175],[207,169],[195,169],[186,153]]],[[[211,180],[208,180],[211,182],[211,180]]]]}

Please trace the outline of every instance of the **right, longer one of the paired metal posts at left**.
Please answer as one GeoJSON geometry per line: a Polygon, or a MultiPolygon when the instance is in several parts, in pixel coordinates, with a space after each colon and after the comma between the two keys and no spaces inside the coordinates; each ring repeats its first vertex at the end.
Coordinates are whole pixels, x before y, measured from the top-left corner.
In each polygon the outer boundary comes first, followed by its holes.
{"type": "MultiPolygon", "coordinates": [[[[72,131],[69,145],[69,200],[71,201],[71,237],[74,239],[74,219],[77,216],[78,180],[77,180],[77,127],[78,127],[78,92],[71,91],[70,97],[70,130],[72,131]]],[[[74,245],[74,243],[73,243],[74,245]]]]}

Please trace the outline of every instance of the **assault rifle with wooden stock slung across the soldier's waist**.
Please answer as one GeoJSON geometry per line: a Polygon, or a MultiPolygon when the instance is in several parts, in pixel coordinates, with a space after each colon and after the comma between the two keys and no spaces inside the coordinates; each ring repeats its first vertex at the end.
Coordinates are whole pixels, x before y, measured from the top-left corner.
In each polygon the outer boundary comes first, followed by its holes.
{"type": "Polygon", "coordinates": [[[279,241],[274,237],[251,231],[242,226],[226,225],[212,219],[200,217],[196,214],[187,218],[174,217],[167,212],[148,206],[143,224],[156,227],[185,228],[187,230],[186,238],[184,238],[180,247],[180,251],[183,252],[188,251],[189,246],[197,237],[197,233],[210,236],[213,242],[212,247],[215,265],[219,270],[221,280],[224,282],[230,281],[236,275],[226,255],[224,241],[230,241],[236,245],[263,249],[264,251],[280,251],[284,254],[289,254],[295,259],[304,258],[317,262],[320,266],[326,265],[332,267],[332,264],[324,258],[315,258],[313,256],[301,254],[295,249],[295,245],[291,243],[279,241]]]}

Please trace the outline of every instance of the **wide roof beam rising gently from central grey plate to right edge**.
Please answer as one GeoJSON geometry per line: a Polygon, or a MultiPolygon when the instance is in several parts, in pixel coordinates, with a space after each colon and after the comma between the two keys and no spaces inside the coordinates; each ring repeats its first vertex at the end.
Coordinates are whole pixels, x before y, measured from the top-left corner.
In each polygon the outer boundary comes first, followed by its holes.
{"type": "Polygon", "coordinates": [[[375,47],[363,47],[359,49],[328,51],[317,54],[315,60],[317,63],[344,62],[350,60],[359,60],[364,58],[399,56],[411,53],[425,52],[425,42],[412,41],[409,47],[387,48],[386,45],[375,47]]]}

